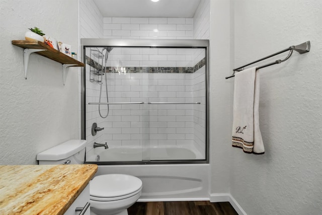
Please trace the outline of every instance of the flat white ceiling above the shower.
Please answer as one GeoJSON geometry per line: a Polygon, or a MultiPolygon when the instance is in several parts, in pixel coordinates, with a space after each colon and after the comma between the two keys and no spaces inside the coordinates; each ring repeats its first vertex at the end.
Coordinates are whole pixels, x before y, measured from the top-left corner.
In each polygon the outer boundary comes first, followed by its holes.
{"type": "Polygon", "coordinates": [[[193,18],[200,0],[94,0],[103,17],[193,18]]]}

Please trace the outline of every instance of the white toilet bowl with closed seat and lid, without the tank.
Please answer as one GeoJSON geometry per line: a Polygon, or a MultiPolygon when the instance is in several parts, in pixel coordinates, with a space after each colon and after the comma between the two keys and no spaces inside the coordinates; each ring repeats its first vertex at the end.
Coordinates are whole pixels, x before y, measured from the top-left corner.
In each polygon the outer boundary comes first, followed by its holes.
{"type": "Polygon", "coordinates": [[[107,174],[90,182],[92,215],[127,215],[127,208],[140,197],[142,181],[131,175],[107,174]]]}

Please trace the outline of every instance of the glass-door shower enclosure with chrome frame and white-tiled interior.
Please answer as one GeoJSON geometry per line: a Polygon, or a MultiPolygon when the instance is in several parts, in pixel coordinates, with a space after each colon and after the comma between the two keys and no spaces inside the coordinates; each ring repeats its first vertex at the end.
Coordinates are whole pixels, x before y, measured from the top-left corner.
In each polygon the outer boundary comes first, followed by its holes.
{"type": "Polygon", "coordinates": [[[208,40],[82,39],[82,56],[87,163],[208,163],[208,40]]]}

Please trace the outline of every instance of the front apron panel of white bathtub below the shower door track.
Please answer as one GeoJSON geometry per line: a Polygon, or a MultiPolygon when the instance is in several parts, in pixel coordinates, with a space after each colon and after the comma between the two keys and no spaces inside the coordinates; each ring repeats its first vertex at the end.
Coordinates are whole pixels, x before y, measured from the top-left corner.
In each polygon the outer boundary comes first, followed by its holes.
{"type": "Polygon", "coordinates": [[[142,180],[138,201],[209,200],[209,164],[99,165],[96,175],[111,173],[142,180]]]}

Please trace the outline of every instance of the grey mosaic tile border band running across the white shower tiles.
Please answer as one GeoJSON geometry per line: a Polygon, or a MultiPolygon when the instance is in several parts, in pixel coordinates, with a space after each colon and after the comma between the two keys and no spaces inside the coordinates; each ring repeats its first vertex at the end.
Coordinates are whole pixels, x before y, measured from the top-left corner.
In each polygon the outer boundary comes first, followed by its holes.
{"type": "MultiPolygon", "coordinates": [[[[86,63],[96,68],[98,70],[102,69],[102,66],[98,64],[96,61],[86,56],[86,63]]],[[[194,73],[202,66],[206,65],[206,58],[204,57],[193,67],[140,67],[140,66],[128,66],[125,67],[126,73],[194,73]]],[[[117,67],[111,66],[106,67],[107,73],[118,73],[117,67]]]]}

